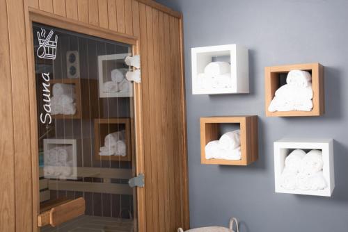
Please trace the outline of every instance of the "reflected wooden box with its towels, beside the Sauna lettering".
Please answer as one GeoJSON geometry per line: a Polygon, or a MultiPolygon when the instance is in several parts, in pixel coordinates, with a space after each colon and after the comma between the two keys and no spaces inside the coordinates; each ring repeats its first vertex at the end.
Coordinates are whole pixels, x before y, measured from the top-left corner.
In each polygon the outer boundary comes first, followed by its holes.
{"type": "Polygon", "coordinates": [[[99,102],[97,80],[87,78],[56,78],[49,81],[49,83],[52,90],[52,112],[56,112],[52,113],[53,119],[99,117],[102,104],[99,102]],[[62,90],[64,87],[60,87],[60,91],[58,90],[57,94],[53,90],[56,84],[67,85],[70,88],[62,90]],[[68,90],[68,93],[64,92],[66,90],[68,90]],[[62,98],[62,93],[67,97],[62,98]],[[70,97],[73,99],[73,102],[69,101],[70,97]]]}

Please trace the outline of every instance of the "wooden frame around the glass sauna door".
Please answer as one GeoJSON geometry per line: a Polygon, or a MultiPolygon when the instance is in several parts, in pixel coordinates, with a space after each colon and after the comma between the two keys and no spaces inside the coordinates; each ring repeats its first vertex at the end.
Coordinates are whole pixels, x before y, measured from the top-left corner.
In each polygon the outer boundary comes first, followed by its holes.
{"type": "MultiPolygon", "coordinates": [[[[117,33],[98,26],[91,26],[81,22],[76,22],[72,19],[61,17],[58,15],[52,15],[40,10],[29,7],[29,24],[26,24],[26,44],[27,44],[27,56],[28,56],[28,69],[29,69],[29,102],[30,102],[30,127],[31,127],[31,169],[32,169],[32,199],[33,199],[33,231],[38,232],[38,215],[40,213],[40,197],[39,197],[39,174],[38,174],[38,120],[37,120],[37,104],[36,104],[36,85],[35,85],[35,60],[33,51],[33,22],[45,24],[47,26],[54,26],[56,28],[62,28],[68,31],[74,31],[77,33],[83,33],[86,35],[92,35],[98,38],[104,38],[106,40],[112,40],[115,42],[122,42],[132,45],[132,52],[134,55],[140,53],[139,38],[134,36],[117,33]]],[[[135,160],[136,167],[134,174],[141,174],[145,172],[144,168],[144,153],[143,153],[143,113],[142,113],[142,97],[141,97],[141,84],[134,83],[134,127],[135,127],[135,160]]],[[[145,189],[136,188],[134,190],[136,194],[136,217],[134,217],[136,226],[139,232],[145,232],[145,189]]]]}

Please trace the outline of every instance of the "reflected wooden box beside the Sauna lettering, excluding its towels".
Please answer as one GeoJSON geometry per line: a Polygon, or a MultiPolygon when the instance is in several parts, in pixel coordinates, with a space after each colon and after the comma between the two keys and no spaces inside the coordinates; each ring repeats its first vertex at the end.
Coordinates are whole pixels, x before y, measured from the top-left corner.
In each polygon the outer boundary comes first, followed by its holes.
{"type": "Polygon", "coordinates": [[[74,115],[52,115],[53,119],[83,119],[99,117],[102,112],[102,103],[98,97],[97,80],[87,78],[63,78],[52,79],[50,86],[56,83],[75,86],[76,113],[74,115]]]}

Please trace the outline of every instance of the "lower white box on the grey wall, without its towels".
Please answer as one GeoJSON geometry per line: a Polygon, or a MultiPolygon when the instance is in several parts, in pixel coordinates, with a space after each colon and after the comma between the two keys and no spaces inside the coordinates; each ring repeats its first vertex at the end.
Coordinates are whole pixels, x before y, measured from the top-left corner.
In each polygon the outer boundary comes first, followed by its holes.
{"type": "Polygon", "coordinates": [[[333,189],[335,188],[335,174],[333,168],[333,140],[290,140],[282,139],[274,142],[274,178],[276,185],[276,192],[290,193],[290,194],[306,194],[315,196],[331,197],[333,189]],[[281,174],[285,167],[285,158],[294,150],[302,149],[303,151],[310,151],[317,149],[322,151],[323,159],[323,176],[326,181],[326,188],[322,190],[301,190],[294,188],[289,190],[283,188],[281,185],[281,174]]]}

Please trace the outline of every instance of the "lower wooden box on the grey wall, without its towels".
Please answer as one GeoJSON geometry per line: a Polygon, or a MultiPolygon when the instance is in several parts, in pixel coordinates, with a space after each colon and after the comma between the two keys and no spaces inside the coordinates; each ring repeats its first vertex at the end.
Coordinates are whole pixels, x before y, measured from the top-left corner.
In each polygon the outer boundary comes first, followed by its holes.
{"type": "Polygon", "coordinates": [[[207,165],[246,166],[258,160],[258,116],[226,116],[200,118],[200,163],[207,165]],[[220,124],[239,124],[241,141],[241,160],[206,159],[205,145],[219,140],[220,124]]]}

